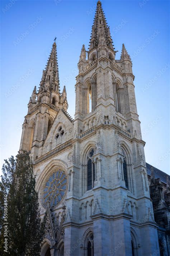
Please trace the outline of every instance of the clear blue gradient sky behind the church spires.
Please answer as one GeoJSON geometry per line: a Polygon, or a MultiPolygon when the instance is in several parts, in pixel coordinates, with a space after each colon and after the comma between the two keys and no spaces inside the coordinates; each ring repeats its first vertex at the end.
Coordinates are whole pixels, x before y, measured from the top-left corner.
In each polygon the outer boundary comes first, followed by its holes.
{"type": "MultiPolygon", "coordinates": [[[[89,45],[94,0],[1,1],[1,165],[16,155],[34,86],[57,36],[61,90],[75,112],[75,76],[82,44],[89,45]]],[[[135,92],[146,161],[169,168],[169,1],[103,0],[115,50],[122,43],[133,61],[135,92]]]]}

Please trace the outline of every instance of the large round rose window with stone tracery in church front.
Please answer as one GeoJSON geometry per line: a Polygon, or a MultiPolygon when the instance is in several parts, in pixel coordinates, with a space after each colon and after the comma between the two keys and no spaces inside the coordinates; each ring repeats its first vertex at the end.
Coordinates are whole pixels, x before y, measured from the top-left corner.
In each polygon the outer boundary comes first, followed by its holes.
{"type": "Polygon", "coordinates": [[[62,169],[51,173],[42,186],[42,203],[46,207],[56,207],[65,195],[67,188],[67,176],[62,169]]]}

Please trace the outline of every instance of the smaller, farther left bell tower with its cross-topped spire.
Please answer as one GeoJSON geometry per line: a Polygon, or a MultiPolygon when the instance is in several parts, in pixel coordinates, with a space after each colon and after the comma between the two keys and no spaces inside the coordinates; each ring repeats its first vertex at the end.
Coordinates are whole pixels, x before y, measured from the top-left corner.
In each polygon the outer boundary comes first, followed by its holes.
{"type": "Polygon", "coordinates": [[[60,93],[56,43],[53,43],[46,69],[43,70],[38,92],[36,86],[28,103],[23,123],[20,151],[30,152],[33,160],[41,156],[41,147],[60,109],[67,110],[66,88],[60,93]]]}

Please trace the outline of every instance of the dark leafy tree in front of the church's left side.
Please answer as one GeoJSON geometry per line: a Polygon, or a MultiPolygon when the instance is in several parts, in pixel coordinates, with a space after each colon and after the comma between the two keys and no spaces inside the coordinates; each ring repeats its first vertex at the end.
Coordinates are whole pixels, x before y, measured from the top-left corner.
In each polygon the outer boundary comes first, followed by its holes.
{"type": "Polygon", "coordinates": [[[5,160],[0,182],[0,255],[30,255],[40,252],[46,216],[41,222],[36,180],[27,152],[5,160]],[[4,252],[4,195],[8,195],[8,253],[4,252]]]}

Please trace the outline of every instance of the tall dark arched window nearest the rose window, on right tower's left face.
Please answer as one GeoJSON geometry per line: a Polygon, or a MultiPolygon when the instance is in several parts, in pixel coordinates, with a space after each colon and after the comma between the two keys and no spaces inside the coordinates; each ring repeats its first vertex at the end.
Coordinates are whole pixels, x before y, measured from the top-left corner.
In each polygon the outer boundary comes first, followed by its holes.
{"type": "Polygon", "coordinates": [[[87,162],[87,190],[93,189],[95,180],[95,164],[93,162],[94,149],[91,149],[87,162]]]}

